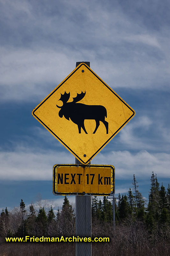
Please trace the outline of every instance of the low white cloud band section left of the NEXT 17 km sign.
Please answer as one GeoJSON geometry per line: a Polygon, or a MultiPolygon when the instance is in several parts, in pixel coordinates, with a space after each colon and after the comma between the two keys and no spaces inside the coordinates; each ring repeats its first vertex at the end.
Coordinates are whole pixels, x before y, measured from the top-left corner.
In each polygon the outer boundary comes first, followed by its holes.
{"type": "Polygon", "coordinates": [[[18,147],[0,152],[1,180],[52,180],[54,164],[74,163],[75,158],[62,151],[18,147]]]}

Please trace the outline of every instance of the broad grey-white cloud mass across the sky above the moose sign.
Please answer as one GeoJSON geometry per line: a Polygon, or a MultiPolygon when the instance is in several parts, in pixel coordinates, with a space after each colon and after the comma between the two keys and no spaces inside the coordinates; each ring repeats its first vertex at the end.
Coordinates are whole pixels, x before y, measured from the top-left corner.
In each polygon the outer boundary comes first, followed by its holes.
{"type": "Polygon", "coordinates": [[[82,60],[112,88],[169,90],[166,26],[151,32],[127,12],[116,2],[2,1],[2,100],[42,100],[82,60]]]}

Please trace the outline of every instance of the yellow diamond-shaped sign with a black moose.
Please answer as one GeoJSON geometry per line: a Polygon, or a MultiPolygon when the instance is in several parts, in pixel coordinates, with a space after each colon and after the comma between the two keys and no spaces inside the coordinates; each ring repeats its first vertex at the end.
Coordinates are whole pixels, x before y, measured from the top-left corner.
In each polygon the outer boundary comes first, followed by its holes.
{"type": "Polygon", "coordinates": [[[91,68],[80,63],[32,115],[82,164],[88,164],[135,111],[91,68]]]}

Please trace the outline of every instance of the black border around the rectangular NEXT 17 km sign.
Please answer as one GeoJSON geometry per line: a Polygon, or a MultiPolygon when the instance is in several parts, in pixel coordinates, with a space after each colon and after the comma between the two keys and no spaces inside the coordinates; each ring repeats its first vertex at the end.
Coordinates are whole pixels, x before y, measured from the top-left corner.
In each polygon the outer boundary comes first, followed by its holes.
{"type": "Polygon", "coordinates": [[[105,164],[55,164],[53,166],[53,194],[55,196],[76,196],[76,195],[87,195],[87,196],[112,196],[115,194],[115,167],[113,165],[105,165],[105,164]],[[59,166],[68,166],[68,167],[110,167],[113,170],[113,180],[114,180],[114,191],[112,193],[87,193],[87,194],[83,194],[83,193],[58,193],[55,191],[55,171],[59,166]]]}

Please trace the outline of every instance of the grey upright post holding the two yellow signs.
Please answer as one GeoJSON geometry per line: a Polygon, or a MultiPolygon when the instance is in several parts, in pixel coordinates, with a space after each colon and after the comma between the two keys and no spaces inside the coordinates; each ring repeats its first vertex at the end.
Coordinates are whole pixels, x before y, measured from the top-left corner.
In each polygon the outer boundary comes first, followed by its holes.
{"type": "MultiPolygon", "coordinates": [[[[81,62],[76,62],[76,67],[81,62]]],[[[90,67],[90,62],[84,62],[90,67]]],[[[76,158],[76,164],[81,164],[76,158]]],[[[76,236],[91,237],[92,236],[92,204],[91,196],[76,196],[76,236]]],[[[92,243],[77,242],[76,256],[91,256],[92,243]]]]}

